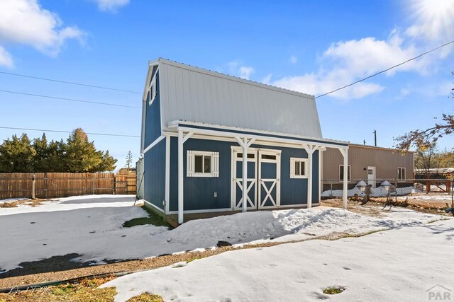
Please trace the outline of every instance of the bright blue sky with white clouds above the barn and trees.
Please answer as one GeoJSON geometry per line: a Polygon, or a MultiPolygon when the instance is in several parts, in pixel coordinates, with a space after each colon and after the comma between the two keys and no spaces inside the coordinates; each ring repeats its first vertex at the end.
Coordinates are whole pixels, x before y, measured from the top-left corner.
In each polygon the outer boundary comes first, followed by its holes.
{"type": "MultiPolygon", "coordinates": [[[[0,71],[143,91],[165,57],[320,95],[454,40],[454,0],[0,0],[0,71]]],[[[316,100],[323,137],[391,147],[453,113],[454,47],[316,100]]],[[[0,90],[140,106],[123,93],[0,74],[0,90]]],[[[0,92],[0,126],[140,135],[140,110],[0,92]]],[[[21,131],[0,129],[0,140],[21,131]]],[[[40,132],[28,132],[38,137],[40,132]]],[[[49,139],[67,134],[47,132],[49,139]]],[[[89,136],[125,163],[139,139],[89,136]]],[[[454,145],[442,139],[441,149],[454,145]]]]}

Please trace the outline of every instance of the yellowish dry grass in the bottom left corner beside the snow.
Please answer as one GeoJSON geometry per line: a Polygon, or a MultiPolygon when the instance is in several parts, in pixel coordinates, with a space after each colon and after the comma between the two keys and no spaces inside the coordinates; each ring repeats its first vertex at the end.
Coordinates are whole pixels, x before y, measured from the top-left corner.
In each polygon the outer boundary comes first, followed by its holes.
{"type": "MultiPolygon", "coordinates": [[[[116,295],[114,287],[99,289],[101,284],[115,279],[114,276],[104,278],[82,279],[77,283],[65,283],[56,286],[44,286],[26,291],[13,291],[9,294],[0,294],[0,302],[112,302],[116,295]]],[[[128,301],[131,302],[162,302],[161,296],[141,294],[128,301]]]]}

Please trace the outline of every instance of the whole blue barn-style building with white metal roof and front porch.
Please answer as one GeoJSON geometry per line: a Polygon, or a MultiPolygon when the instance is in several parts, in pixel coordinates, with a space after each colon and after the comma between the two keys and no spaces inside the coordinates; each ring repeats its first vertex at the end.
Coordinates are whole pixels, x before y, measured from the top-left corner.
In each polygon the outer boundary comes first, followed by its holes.
{"type": "Polygon", "coordinates": [[[149,63],[138,196],[178,223],[185,214],[319,204],[326,148],[347,165],[348,142],[323,139],[312,95],[167,59],[149,63]]]}

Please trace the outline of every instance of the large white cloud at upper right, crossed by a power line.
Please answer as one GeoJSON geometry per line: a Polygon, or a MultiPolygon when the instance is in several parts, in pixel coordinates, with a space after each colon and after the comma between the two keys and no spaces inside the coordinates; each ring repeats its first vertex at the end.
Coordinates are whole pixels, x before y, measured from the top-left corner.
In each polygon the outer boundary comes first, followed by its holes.
{"type": "MultiPolygon", "coordinates": [[[[333,43],[323,52],[319,70],[301,76],[286,76],[273,83],[294,91],[320,95],[348,85],[359,79],[388,69],[440,45],[443,37],[454,36],[454,0],[409,0],[414,11],[414,23],[403,33],[394,29],[386,40],[365,37],[333,43]]],[[[407,62],[387,71],[386,76],[411,71],[428,74],[437,62],[448,56],[453,47],[407,62]]],[[[371,80],[331,94],[336,98],[362,98],[380,93],[384,86],[371,80]]]]}

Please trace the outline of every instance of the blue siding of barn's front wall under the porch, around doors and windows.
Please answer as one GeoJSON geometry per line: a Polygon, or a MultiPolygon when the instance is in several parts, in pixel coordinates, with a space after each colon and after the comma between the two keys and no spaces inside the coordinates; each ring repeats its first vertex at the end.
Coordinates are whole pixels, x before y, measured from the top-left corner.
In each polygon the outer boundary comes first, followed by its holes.
{"type": "MultiPolygon", "coordinates": [[[[211,141],[207,139],[188,139],[184,143],[184,210],[199,209],[228,209],[231,208],[231,146],[238,144],[226,141],[211,141]],[[217,151],[219,152],[218,178],[187,178],[187,151],[217,151]],[[214,197],[217,192],[218,197],[214,197]]],[[[304,149],[283,148],[275,146],[252,145],[253,148],[281,150],[281,205],[307,204],[307,179],[290,178],[290,158],[307,158],[304,149]]],[[[237,163],[238,178],[241,177],[242,164],[237,163]]],[[[319,201],[319,151],[313,155],[312,202],[319,201]]],[[[271,171],[272,172],[272,171],[271,171]]],[[[248,175],[252,176],[253,163],[248,163],[248,175]]],[[[266,176],[266,175],[265,175],[266,176]]],[[[178,139],[170,139],[170,211],[178,210],[178,139]]],[[[237,190],[237,195],[240,190],[237,190]]],[[[250,192],[253,196],[253,192],[250,192]]],[[[264,197],[265,191],[262,190],[264,197]]],[[[276,190],[272,191],[273,197],[276,190]]],[[[238,195],[240,198],[240,195],[238,195]]],[[[265,205],[270,205],[267,202],[265,205]]]]}

